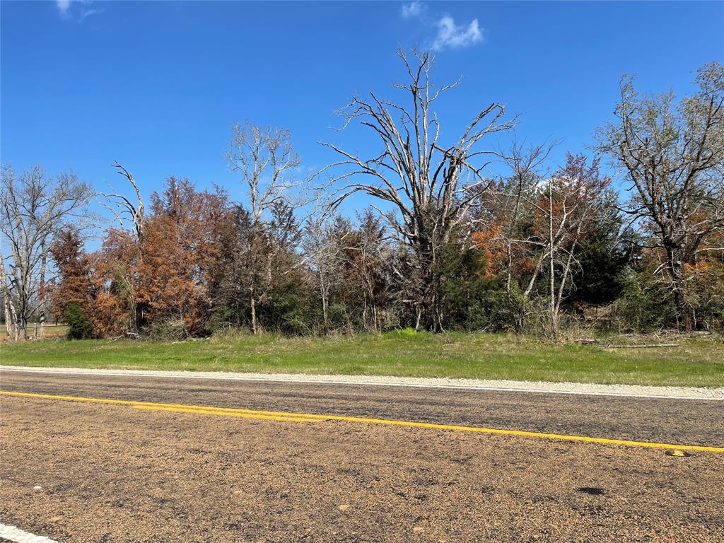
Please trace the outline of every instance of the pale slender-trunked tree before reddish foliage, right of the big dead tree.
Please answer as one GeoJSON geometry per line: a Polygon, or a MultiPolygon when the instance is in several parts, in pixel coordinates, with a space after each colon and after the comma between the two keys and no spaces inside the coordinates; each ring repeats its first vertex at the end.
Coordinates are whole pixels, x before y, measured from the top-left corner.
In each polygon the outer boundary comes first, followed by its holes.
{"type": "MultiPolygon", "coordinates": [[[[517,141],[501,152],[510,175],[494,190],[491,221],[494,246],[505,258],[506,290],[513,300],[513,277],[521,285],[516,326],[522,329],[526,306],[547,275],[544,332],[556,337],[565,292],[573,287],[576,253],[605,209],[615,205],[610,177],[602,176],[599,159],[568,153],[565,167],[550,173],[547,157],[557,143],[524,147],[517,141]]],[[[502,260],[502,258],[501,258],[502,260]]]]}

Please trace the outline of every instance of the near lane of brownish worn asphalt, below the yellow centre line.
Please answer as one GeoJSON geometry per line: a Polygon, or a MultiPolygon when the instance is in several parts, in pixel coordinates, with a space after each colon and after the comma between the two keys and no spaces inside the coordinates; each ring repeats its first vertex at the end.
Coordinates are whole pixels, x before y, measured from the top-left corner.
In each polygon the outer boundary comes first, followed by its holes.
{"type": "Polygon", "coordinates": [[[60,542],[724,536],[720,454],[0,402],[0,520],[60,542]]]}

